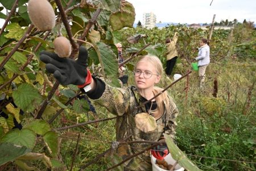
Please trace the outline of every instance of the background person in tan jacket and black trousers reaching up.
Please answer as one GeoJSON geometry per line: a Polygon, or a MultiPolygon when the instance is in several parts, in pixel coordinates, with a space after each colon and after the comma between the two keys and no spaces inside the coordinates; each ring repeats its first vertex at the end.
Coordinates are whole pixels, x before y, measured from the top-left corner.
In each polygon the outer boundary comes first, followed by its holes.
{"type": "Polygon", "coordinates": [[[166,74],[168,77],[171,76],[172,69],[174,69],[174,65],[177,60],[177,49],[176,49],[176,42],[177,42],[177,32],[175,32],[174,37],[166,39],[166,48],[167,48],[167,56],[166,56],[166,74]]]}

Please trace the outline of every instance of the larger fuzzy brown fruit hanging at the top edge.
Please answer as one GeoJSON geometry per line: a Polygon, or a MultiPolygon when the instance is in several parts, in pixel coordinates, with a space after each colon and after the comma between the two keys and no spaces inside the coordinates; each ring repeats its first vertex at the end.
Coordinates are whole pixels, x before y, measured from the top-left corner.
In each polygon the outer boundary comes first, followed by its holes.
{"type": "Polygon", "coordinates": [[[55,26],[55,13],[47,0],[30,0],[27,10],[32,24],[39,30],[47,31],[55,26]]]}

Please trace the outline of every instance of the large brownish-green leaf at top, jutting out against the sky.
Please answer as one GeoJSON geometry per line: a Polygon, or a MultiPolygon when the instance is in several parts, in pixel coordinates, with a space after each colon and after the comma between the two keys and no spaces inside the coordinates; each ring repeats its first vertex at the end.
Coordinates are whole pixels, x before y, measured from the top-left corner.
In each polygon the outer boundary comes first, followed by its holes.
{"type": "Polygon", "coordinates": [[[122,1],[121,10],[110,15],[109,22],[113,30],[120,30],[123,27],[133,27],[135,20],[135,10],[133,5],[127,1],[122,1]]]}

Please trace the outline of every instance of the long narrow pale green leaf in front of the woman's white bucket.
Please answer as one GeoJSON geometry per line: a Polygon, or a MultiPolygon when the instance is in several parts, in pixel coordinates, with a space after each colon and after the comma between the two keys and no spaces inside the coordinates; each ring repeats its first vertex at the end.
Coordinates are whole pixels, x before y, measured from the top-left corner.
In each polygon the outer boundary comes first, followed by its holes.
{"type": "Polygon", "coordinates": [[[183,166],[183,168],[188,171],[202,171],[201,169],[197,168],[197,166],[193,164],[187,156],[185,156],[185,154],[176,146],[170,136],[164,134],[164,139],[166,139],[167,147],[172,155],[172,158],[174,158],[174,160],[176,160],[180,166],[183,166]]]}

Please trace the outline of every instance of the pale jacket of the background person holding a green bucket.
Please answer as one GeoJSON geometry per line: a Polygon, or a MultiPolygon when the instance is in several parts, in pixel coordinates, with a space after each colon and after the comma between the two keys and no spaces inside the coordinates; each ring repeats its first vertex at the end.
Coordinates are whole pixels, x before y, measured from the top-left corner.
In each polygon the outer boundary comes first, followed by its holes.
{"type": "Polygon", "coordinates": [[[196,60],[198,61],[197,66],[204,66],[210,63],[210,47],[207,44],[199,48],[196,60]]]}

